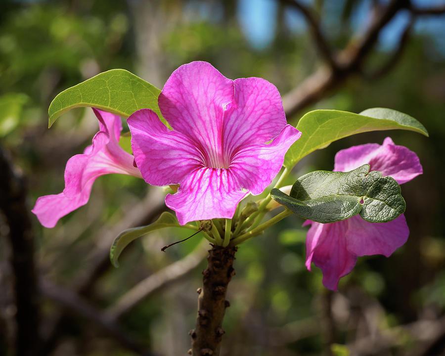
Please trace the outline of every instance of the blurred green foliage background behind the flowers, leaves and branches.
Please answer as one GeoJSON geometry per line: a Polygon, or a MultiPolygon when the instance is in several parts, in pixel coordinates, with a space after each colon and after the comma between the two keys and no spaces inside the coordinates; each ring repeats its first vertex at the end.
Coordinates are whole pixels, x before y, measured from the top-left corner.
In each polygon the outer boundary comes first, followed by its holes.
{"type": "MultiPolygon", "coordinates": [[[[329,38],[342,46],[355,30],[361,1],[335,1],[329,6],[323,2],[315,1],[329,38]],[[333,27],[335,31],[329,31],[333,27]]],[[[306,27],[291,27],[282,7],[273,14],[273,41],[257,48],[242,31],[239,18],[245,14],[238,12],[235,0],[169,0],[151,7],[137,0],[4,0],[1,6],[0,140],[28,177],[30,205],[40,195],[63,189],[67,159],[82,152],[97,129],[90,110],[77,109],[47,130],[49,102],[63,89],[112,68],[162,82],[185,62],[207,60],[229,78],[260,76],[284,94],[320,64],[306,27]],[[153,28],[146,33],[150,24],[153,28]]],[[[381,143],[386,135],[417,152],[424,167],[424,175],[402,187],[411,231],[406,245],[390,259],[359,259],[333,296],[338,343],[333,345],[334,355],[348,355],[343,345],[363,335],[363,323],[387,330],[423,317],[439,318],[445,312],[445,180],[438,179],[445,167],[445,64],[438,36],[416,31],[385,77],[352,78],[307,108],[360,112],[390,107],[417,118],[430,133],[430,138],[402,131],[359,134],[313,153],[294,170],[294,177],[314,169],[330,170],[339,149],[381,143]],[[375,320],[364,317],[368,311],[375,320]]],[[[377,67],[388,55],[379,47],[369,63],[377,67]]],[[[288,121],[296,124],[303,114],[288,121]]],[[[44,229],[36,220],[42,273],[69,287],[91,265],[89,252],[100,243],[101,234],[137,207],[147,189],[141,179],[105,176],[95,183],[89,204],[56,228],[44,229]]],[[[326,293],[319,270],[313,267],[309,272],[304,266],[302,223],[289,218],[240,247],[224,325],[227,355],[321,353],[326,293]]],[[[135,241],[121,257],[121,267],[110,268],[96,283],[90,296],[93,303],[112,305],[138,281],[192,251],[198,236],[160,252],[187,233],[169,229],[135,241]]],[[[185,331],[194,324],[200,278],[198,268],[191,277],[144,300],[122,318],[124,329],[162,355],[182,354],[189,344],[185,331]]],[[[57,305],[44,302],[44,313],[51,316],[57,305]]],[[[64,325],[63,332],[66,337],[55,355],[132,355],[80,317],[64,325]]],[[[412,346],[411,339],[409,334],[400,336],[399,354],[412,346]]]]}

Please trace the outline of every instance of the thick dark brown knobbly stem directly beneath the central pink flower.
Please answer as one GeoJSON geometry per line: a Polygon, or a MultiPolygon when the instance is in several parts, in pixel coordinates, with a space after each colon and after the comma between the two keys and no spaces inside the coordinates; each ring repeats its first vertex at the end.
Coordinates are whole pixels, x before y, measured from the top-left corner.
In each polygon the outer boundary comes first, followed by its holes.
{"type": "Polygon", "coordinates": [[[192,348],[189,355],[219,356],[223,339],[223,318],[230,305],[225,300],[227,285],[235,275],[233,261],[236,247],[213,246],[207,257],[207,268],[202,272],[203,287],[198,289],[196,327],[190,331],[192,348]]]}

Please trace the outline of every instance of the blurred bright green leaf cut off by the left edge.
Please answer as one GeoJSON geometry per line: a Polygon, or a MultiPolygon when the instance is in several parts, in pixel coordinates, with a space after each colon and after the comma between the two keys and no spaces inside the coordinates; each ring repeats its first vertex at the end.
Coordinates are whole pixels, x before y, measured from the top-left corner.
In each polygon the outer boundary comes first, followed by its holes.
{"type": "Polygon", "coordinates": [[[28,96],[21,93],[0,96],[0,137],[6,136],[19,125],[27,101],[28,96]]]}

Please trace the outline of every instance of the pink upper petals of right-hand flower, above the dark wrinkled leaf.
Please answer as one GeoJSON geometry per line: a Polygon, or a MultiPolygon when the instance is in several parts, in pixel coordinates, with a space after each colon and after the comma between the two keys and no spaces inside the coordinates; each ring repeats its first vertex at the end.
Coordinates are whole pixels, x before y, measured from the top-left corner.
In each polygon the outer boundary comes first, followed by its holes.
{"type": "Polygon", "coordinates": [[[334,171],[348,172],[363,164],[370,164],[371,170],[381,171],[399,184],[423,173],[419,157],[408,148],[395,145],[390,137],[385,138],[383,145],[368,143],[339,151],[334,171]]]}

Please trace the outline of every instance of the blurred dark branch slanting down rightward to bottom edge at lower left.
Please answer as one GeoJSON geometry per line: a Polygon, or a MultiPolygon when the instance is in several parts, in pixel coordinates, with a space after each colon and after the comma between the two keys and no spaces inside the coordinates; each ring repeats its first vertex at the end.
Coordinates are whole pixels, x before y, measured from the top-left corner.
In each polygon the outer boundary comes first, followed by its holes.
{"type": "Polygon", "coordinates": [[[93,322],[96,326],[110,334],[113,340],[118,341],[126,349],[134,351],[138,355],[151,355],[126,335],[114,320],[97,310],[80,296],[45,279],[40,280],[39,287],[43,296],[61,304],[70,312],[74,312],[76,315],[80,315],[88,321],[93,322]]]}

